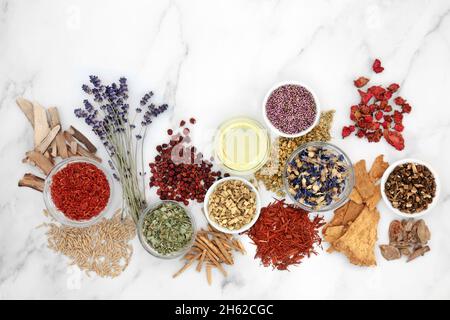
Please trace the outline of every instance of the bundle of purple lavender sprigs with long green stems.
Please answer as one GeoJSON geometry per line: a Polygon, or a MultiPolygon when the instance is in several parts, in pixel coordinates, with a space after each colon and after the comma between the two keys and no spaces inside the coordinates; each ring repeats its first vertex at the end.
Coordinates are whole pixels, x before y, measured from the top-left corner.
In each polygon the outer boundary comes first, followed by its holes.
{"type": "Polygon", "coordinates": [[[150,91],[131,113],[126,78],[120,78],[118,84],[113,82],[109,85],[104,85],[97,76],[89,78],[91,84],[84,84],[82,89],[93,102],[84,100],[84,108],[77,108],[74,112],[91,126],[102,141],[110,156],[108,163],[115,171],[114,177],[122,185],[124,212],[127,211],[137,222],[146,206],[143,141],[148,125],[168,106],[153,104],[153,92],[150,91]]]}

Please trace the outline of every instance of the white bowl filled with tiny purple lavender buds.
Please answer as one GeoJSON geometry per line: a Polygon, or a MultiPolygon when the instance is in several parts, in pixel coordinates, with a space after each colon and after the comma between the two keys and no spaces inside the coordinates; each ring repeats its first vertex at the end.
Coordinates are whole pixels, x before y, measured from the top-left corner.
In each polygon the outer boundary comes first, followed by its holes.
{"type": "Polygon", "coordinates": [[[307,134],[320,119],[317,96],[308,86],[296,81],[273,86],[264,98],[263,110],[267,126],[286,138],[307,134]]]}

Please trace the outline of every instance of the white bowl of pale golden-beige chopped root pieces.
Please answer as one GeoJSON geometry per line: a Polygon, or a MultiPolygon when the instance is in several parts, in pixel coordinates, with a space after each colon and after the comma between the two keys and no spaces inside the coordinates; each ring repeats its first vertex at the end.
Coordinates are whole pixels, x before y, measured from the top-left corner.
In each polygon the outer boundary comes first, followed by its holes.
{"type": "Polygon", "coordinates": [[[258,220],[261,200],[249,181],[228,177],[216,181],[206,193],[204,211],[215,229],[238,234],[250,229],[258,220]]]}

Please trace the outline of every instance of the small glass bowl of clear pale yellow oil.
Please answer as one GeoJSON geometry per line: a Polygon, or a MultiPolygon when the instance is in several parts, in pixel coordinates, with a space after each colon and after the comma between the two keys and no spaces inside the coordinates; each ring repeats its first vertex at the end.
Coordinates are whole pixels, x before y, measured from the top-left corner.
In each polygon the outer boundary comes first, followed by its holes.
{"type": "Polygon", "coordinates": [[[214,139],[216,161],[235,175],[251,175],[270,155],[270,137],[258,121],[237,117],[223,122],[214,139]]]}

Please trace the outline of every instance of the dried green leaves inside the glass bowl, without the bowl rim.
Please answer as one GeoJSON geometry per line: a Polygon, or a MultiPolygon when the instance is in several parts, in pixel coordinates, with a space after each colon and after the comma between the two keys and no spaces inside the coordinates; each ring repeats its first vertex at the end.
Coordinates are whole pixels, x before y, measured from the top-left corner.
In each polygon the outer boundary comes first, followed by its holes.
{"type": "Polygon", "coordinates": [[[186,210],[170,202],[147,213],[142,228],[147,243],[161,255],[183,250],[194,235],[192,221],[186,210]]]}

